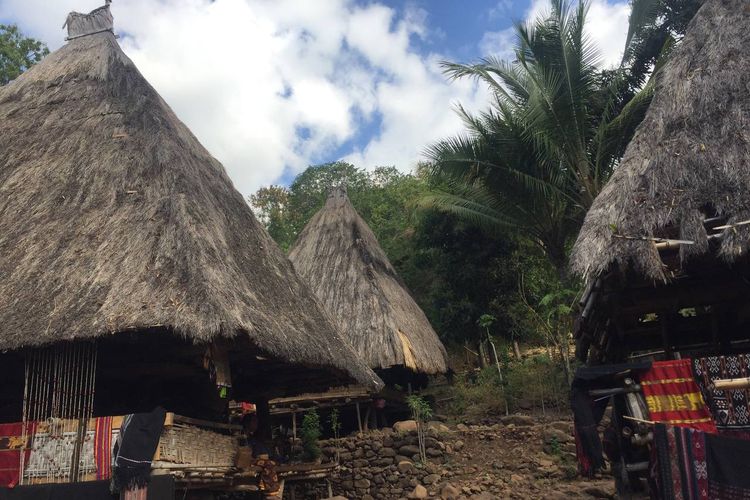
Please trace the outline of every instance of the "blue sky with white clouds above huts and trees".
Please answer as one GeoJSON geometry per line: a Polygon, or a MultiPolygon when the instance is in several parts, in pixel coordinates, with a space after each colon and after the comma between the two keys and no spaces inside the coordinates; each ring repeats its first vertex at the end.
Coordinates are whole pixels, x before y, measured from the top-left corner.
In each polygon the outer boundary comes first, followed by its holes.
{"type": "MultiPolygon", "coordinates": [[[[0,0],[51,50],[69,11],[103,0],[0,0]]],[[[627,0],[590,0],[601,64],[619,61],[627,0]]],[[[431,142],[460,133],[457,103],[486,90],[447,81],[441,61],[509,58],[514,22],[549,0],[114,0],[120,45],[221,161],[244,195],[346,160],[412,171],[431,142]]]]}

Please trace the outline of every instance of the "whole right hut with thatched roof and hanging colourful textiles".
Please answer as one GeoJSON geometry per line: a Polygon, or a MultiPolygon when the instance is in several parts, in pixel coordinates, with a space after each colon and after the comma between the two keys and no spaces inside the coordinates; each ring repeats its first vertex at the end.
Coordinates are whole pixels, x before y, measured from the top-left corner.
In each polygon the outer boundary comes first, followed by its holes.
{"type": "Polygon", "coordinates": [[[747,462],[750,441],[724,436],[750,429],[748,3],[707,0],[656,78],[573,248],[586,283],[575,331],[586,363],[573,382],[579,458],[582,469],[603,464],[596,424],[611,400],[621,492],[651,470],[659,498],[734,498],[750,494],[733,465],[747,462]],[[691,449],[699,455],[679,465],[691,449]]]}

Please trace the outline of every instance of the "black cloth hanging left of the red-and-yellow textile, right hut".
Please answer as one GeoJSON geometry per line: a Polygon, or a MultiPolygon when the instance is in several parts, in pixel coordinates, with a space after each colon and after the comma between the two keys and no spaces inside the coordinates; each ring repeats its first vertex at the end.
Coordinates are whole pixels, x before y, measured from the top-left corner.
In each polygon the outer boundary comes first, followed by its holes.
{"type": "Polygon", "coordinates": [[[604,466],[602,441],[596,427],[607,410],[609,398],[596,401],[589,395],[592,389],[613,387],[615,376],[627,371],[640,372],[651,368],[650,362],[620,363],[615,365],[581,366],[576,370],[570,388],[570,407],[576,430],[576,452],[581,474],[593,475],[604,466]]]}

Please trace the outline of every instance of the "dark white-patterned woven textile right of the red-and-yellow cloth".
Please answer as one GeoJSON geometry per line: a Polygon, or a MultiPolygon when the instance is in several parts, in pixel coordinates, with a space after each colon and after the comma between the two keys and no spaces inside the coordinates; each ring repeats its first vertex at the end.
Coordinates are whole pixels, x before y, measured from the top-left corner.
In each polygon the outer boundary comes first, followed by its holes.
{"type": "Polygon", "coordinates": [[[716,379],[750,377],[750,354],[709,356],[693,361],[701,388],[716,427],[720,431],[750,431],[750,389],[714,389],[716,379]]]}

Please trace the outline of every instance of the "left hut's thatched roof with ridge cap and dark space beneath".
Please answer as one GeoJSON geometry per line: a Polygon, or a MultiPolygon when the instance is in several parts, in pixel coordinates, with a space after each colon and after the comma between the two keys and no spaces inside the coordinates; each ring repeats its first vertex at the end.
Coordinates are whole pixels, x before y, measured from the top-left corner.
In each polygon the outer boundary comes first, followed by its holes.
{"type": "Polygon", "coordinates": [[[120,49],[109,5],[67,26],[0,87],[0,422],[219,420],[230,391],[379,388],[120,49]]]}

